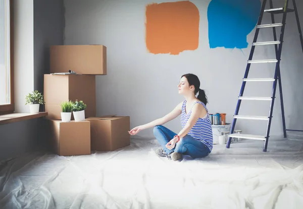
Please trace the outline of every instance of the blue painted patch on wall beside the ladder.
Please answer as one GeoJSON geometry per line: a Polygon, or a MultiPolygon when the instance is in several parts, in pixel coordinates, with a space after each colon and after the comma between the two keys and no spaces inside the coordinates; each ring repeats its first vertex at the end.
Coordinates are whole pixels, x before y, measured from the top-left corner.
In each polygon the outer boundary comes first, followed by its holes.
{"type": "Polygon", "coordinates": [[[247,48],[260,10],[260,0],[212,0],[207,11],[210,48],[247,48]]]}

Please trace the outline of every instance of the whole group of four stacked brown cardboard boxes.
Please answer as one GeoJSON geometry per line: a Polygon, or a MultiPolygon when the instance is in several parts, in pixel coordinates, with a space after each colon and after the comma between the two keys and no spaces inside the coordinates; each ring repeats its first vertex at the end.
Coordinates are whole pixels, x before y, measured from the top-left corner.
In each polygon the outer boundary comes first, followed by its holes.
{"type": "Polygon", "coordinates": [[[55,45],[50,56],[51,74],[44,75],[43,94],[52,150],[62,156],[89,155],[128,146],[129,116],[96,116],[95,76],[107,75],[106,46],[55,45]],[[61,121],[61,103],[70,100],[87,105],[85,121],[75,122],[73,116],[71,122],[61,121]]]}

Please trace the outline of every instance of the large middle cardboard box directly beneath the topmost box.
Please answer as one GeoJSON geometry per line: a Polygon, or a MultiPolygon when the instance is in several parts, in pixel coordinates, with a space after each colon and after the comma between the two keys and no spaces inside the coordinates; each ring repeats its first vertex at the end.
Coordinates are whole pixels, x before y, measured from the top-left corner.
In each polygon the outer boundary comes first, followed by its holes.
{"type": "MultiPolygon", "coordinates": [[[[93,75],[44,75],[44,100],[47,119],[61,120],[63,101],[83,101],[85,117],[96,116],[96,87],[93,75]]],[[[74,119],[72,114],[72,120],[74,119]]]]}

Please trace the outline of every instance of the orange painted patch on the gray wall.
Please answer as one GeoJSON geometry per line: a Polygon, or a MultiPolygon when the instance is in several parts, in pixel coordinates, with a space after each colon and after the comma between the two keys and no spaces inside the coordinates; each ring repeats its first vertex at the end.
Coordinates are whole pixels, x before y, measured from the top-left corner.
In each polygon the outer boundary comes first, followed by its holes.
{"type": "Polygon", "coordinates": [[[177,55],[199,45],[199,11],[189,2],[146,6],[145,42],[150,53],[177,55]]]}

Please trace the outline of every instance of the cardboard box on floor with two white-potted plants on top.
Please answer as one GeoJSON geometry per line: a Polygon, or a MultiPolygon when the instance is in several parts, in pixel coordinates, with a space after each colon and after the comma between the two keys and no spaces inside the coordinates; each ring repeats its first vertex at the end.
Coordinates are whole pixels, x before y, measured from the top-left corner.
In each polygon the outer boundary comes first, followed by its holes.
{"type": "Polygon", "coordinates": [[[60,156],[90,155],[90,122],[48,120],[49,142],[60,156]]]}

